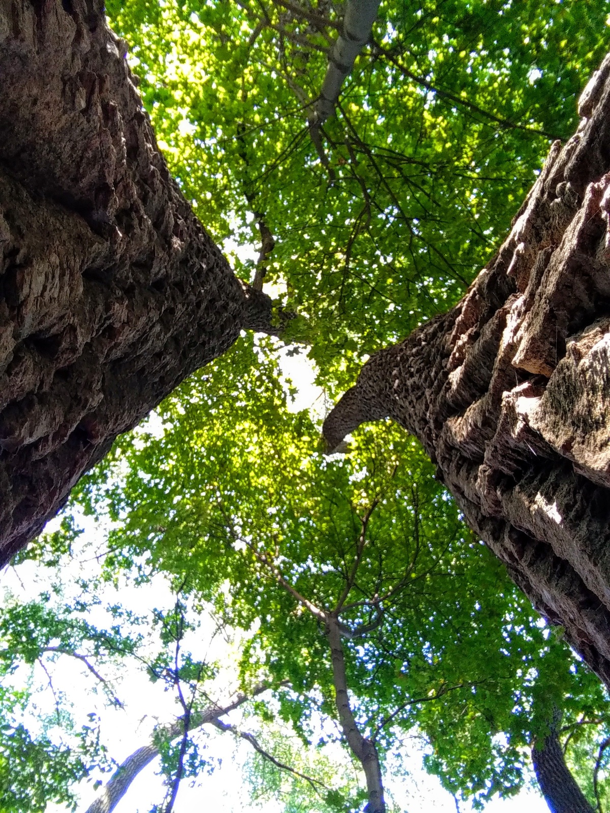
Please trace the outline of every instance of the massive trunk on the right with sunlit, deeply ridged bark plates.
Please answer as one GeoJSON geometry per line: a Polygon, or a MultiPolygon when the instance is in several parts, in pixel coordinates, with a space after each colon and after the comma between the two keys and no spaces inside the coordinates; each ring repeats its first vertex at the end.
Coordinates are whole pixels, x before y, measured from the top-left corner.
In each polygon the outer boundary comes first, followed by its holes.
{"type": "Polygon", "coordinates": [[[498,254],[325,421],[419,438],[468,524],[610,685],[610,55],[498,254]]]}

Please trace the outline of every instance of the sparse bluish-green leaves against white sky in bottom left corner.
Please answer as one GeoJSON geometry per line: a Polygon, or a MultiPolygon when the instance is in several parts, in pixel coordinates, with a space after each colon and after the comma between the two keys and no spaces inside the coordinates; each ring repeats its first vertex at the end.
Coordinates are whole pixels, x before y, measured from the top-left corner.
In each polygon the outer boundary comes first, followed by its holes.
{"type": "MultiPolygon", "coordinates": [[[[55,691],[49,668],[60,657],[76,658],[97,672],[109,658],[132,654],[136,641],[118,628],[97,628],[82,616],[81,602],[50,608],[50,595],[19,602],[7,596],[0,620],[0,811],[43,813],[49,802],[76,806],[74,785],[108,759],[96,715],[75,724],[67,693],[55,691]],[[86,654],[83,654],[86,653],[86,654]],[[41,672],[43,675],[41,675],[41,672]],[[48,681],[54,710],[37,702],[48,681]],[[43,684],[44,685],[44,684],[43,684]]],[[[130,619],[129,627],[133,628],[130,619]]],[[[107,683],[107,701],[117,701],[107,683]]],[[[97,689],[96,689],[97,690],[97,689]]]]}

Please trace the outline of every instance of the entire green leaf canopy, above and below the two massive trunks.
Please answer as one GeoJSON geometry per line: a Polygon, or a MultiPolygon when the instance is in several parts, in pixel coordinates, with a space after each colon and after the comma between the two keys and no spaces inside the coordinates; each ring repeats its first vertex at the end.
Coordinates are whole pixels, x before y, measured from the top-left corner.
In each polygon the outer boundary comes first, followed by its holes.
{"type": "MultiPolygon", "coordinates": [[[[217,241],[230,238],[237,273],[258,274],[292,316],[284,341],[307,352],[334,393],[368,354],[451,306],[484,265],[549,140],[573,131],[577,93],[605,50],[610,3],[382,2],[317,139],[307,119],[339,4],[130,0],[110,2],[107,13],[182,192],[217,241]],[[244,246],[255,246],[258,261],[244,246]]],[[[185,620],[183,598],[194,615],[211,607],[226,628],[247,633],[241,690],[264,681],[272,696],[253,713],[263,724],[275,715],[316,753],[341,738],[334,729],[314,742],[317,720],[341,720],[335,624],[354,724],[381,767],[415,730],[429,772],[483,806],[518,792],[529,749],[559,712],[573,772],[591,804],[605,802],[599,680],[466,528],[416,441],[379,424],[359,430],[348,454],[322,454],[315,416],[290,410],[277,346],[242,336],[151,424],[120,437],[72,494],[68,517],[80,509],[112,523],[102,579],[160,574],[176,591],[176,606],[156,618],[165,649],[152,676],[197,695],[213,669],[190,655],[178,665],[176,624],[197,623],[185,620]]],[[[61,568],[78,541],[66,519],[15,565],[61,568]]],[[[71,803],[72,786],[106,764],[104,752],[93,724],[60,745],[45,724],[30,732],[30,696],[9,678],[51,651],[78,659],[86,644],[93,679],[104,659],[137,654],[138,624],[128,614],[121,629],[94,627],[83,618],[89,599],[53,611],[44,598],[11,601],[0,628],[8,687],[0,811],[42,811],[71,803]]],[[[114,693],[108,700],[118,702],[114,693]]],[[[180,702],[184,737],[155,746],[168,777],[165,811],[181,777],[205,762],[184,723],[203,705],[182,694],[180,702]]],[[[285,742],[269,731],[263,738],[285,742]]],[[[316,759],[326,783],[329,764],[316,759]]],[[[265,781],[272,787],[277,775],[265,781]]],[[[285,809],[314,809],[298,788],[285,809]]],[[[364,797],[345,781],[319,803],[359,810],[364,797]]]]}

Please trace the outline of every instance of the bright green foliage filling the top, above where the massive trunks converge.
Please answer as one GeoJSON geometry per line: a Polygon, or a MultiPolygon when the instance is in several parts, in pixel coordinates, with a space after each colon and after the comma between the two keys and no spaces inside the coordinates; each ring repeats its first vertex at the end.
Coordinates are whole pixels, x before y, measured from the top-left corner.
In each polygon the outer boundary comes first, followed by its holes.
{"type": "Polygon", "coordinates": [[[341,3],[111,0],[107,13],[185,196],[217,241],[258,243],[266,224],[290,335],[345,388],[498,246],[550,139],[573,132],[610,3],[384,0],[321,158],[307,114],[341,3]]]}

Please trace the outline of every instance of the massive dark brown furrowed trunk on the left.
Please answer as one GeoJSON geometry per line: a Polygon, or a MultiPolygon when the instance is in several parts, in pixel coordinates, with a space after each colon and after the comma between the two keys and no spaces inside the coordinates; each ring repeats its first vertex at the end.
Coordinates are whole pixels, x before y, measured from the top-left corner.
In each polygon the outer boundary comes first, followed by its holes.
{"type": "Polygon", "coordinates": [[[0,563],[242,328],[98,0],[0,0],[0,563]]]}

